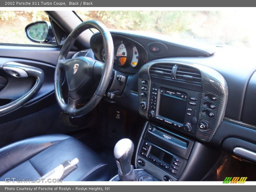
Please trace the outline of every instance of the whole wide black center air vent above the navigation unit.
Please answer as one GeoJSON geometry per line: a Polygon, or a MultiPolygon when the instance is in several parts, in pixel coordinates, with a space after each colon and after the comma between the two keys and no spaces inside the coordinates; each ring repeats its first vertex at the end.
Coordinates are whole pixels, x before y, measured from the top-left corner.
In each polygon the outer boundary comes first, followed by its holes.
{"type": "Polygon", "coordinates": [[[200,71],[186,65],[157,63],[151,66],[149,73],[151,77],[201,85],[200,71]]]}

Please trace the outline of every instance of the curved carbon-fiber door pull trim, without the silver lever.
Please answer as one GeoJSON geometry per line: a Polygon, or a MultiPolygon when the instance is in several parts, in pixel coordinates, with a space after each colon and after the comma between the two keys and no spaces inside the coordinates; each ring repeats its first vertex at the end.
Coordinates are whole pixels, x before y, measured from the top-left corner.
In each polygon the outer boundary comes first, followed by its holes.
{"type": "Polygon", "coordinates": [[[36,83],[35,85],[29,90],[28,93],[26,93],[25,95],[23,95],[22,97],[20,97],[17,100],[14,100],[6,105],[3,105],[0,107],[0,115],[4,115],[8,112],[11,112],[17,108],[19,108],[20,106],[22,106],[23,104],[25,104],[27,101],[29,101],[42,87],[43,83],[44,83],[44,72],[36,67],[31,67],[28,65],[23,65],[20,63],[16,63],[16,62],[8,62],[5,63],[3,65],[4,67],[11,67],[11,68],[20,68],[24,71],[26,71],[26,73],[28,74],[29,77],[35,77],[36,78],[36,83]]]}

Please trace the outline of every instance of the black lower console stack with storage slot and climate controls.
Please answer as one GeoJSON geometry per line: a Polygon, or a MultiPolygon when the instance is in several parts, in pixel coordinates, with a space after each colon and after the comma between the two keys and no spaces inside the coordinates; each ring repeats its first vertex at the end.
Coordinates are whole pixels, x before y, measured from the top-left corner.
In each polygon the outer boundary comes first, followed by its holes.
{"type": "Polygon", "coordinates": [[[164,170],[158,176],[159,180],[165,177],[175,181],[187,164],[193,144],[192,140],[168,132],[155,124],[147,124],[137,151],[137,167],[148,171],[148,164],[153,164],[159,170],[164,170]]]}

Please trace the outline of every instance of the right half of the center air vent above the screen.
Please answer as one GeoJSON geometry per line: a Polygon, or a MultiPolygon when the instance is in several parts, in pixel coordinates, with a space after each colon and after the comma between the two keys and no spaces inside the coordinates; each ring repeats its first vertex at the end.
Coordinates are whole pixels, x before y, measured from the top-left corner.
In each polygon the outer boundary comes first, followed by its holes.
{"type": "Polygon", "coordinates": [[[175,78],[177,81],[201,85],[200,71],[186,65],[178,65],[175,78]]]}

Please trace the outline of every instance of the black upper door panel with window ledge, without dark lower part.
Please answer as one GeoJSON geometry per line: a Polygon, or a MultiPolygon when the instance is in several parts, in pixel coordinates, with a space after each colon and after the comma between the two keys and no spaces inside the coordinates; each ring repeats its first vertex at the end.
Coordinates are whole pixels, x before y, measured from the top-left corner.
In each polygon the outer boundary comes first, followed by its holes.
{"type": "MultiPolygon", "coordinates": [[[[45,46],[0,45],[0,106],[28,92],[35,83],[33,77],[16,78],[6,73],[2,66],[7,62],[18,62],[44,71],[44,83],[36,95],[22,107],[0,116],[0,124],[46,108],[56,103],[54,95],[54,70],[60,49],[45,46]]],[[[70,51],[68,58],[75,52],[70,51]]],[[[0,125],[1,126],[1,125],[0,125]]]]}

